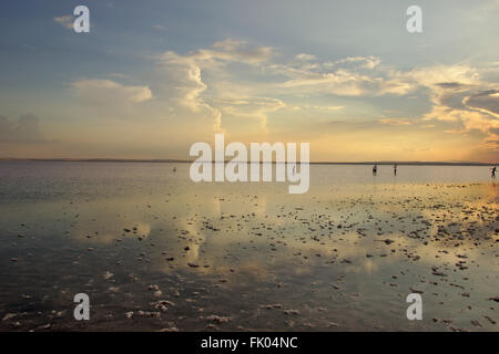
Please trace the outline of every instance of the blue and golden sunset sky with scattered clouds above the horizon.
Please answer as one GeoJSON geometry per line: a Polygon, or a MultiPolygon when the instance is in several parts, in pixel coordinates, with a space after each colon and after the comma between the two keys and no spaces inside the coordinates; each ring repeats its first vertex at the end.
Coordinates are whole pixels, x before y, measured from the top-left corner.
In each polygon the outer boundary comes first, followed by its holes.
{"type": "Polygon", "coordinates": [[[499,162],[499,0],[1,7],[0,157],[187,159],[224,133],[313,162],[499,162]]]}

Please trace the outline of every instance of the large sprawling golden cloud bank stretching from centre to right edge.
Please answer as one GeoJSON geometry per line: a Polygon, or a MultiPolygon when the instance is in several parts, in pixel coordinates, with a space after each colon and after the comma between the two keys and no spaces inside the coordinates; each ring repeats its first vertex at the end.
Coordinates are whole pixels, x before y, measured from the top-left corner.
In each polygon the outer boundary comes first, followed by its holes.
{"type": "Polygon", "coordinates": [[[483,112],[496,111],[497,92],[483,93],[487,83],[481,80],[479,71],[469,65],[440,64],[400,71],[381,65],[381,60],[371,55],[320,62],[314,54],[298,53],[283,62],[277,54],[268,46],[248,49],[246,42],[232,39],[186,54],[164,52],[157,59],[165,73],[162,91],[167,91],[167,96],[192,112],[211,116],[215,129],[224,127],[230,132],[252,129],[245,123],[252,121],[258,122],[254,129],[268,132],[268,121],[284,107],[295,118],[312,114],[310,118],[318,115],[323,119],[325,112],[339,111],[335,113],[337,118],[340,118],[338,114],[355,118],[349,105],[330,105],[320,98],[327,95],[373,100],[411,93],[421,100],[421,93],[426,92],[431,104],[427,113],[414,119],[371,119],[369,126],[406,129],[413,123],[419,123],[418,126],[426,132],[435,132],[442,126],[424,121],[441,121],[446,122],[442,128],[448,132],[480,132],[483,139],[491,137],[497,127],[497,119],[483,112]],[[234,66],[235,63],[245,66],[234,66]],[[306,102],[297,102],[301,98],[306,98],[306,102]],[[315,100],[322,104],[312,104],[315,100]]]}

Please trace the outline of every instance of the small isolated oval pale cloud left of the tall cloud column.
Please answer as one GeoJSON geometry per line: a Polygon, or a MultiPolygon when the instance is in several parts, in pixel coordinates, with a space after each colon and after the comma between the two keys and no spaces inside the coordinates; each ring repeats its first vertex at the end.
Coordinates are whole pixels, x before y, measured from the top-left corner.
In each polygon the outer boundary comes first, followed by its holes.
{"type": "Polygon", "coordinates": [[[128,86],[112,80],[78,80],[71,83],[75,94],[85,103],[98,105],[130,105],[151,100],[147,86],[128,86]]]}

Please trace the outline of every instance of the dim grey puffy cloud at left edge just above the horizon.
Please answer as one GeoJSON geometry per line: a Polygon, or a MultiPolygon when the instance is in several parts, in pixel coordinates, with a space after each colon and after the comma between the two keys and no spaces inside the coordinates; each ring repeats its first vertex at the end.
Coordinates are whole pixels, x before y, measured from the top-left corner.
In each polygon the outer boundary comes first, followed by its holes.
{"type": "Polygon", "coordinates": [[[0,143],[45,143],[40,128],[40,119],[33,114],[24,114],[18,121],[0,116],[0,143]]]}

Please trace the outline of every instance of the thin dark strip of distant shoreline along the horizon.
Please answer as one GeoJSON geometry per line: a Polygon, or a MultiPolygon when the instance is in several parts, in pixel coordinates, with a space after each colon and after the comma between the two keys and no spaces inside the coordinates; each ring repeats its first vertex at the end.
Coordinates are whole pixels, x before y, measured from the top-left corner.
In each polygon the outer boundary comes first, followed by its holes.
{"type": "MultiPolygon", "coordinates": [[[[38,162],[38,163],[154,163],[154,164],[192,164],[185,159],[129,159],[129,158],[0,158],[0,163],[38,162]]],[[[227,163],[226,160],[225,163],[227,163]]],[[[213,162],[212,162],[213,163],[213,162]]],[[[310,165],[400,165],[400,166],[496,166],[492,163],[473,162],[310,162],[310,165]]],[[[261,163],[262,164],[262,163],[261,163]]],[[[273,163],[275,164],[275,163],[273,163]]],[[[298,162],[299,164],[299,162],[298,162]]]]}

